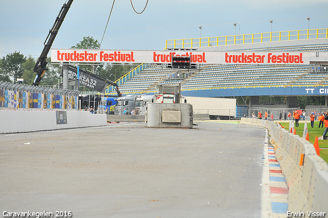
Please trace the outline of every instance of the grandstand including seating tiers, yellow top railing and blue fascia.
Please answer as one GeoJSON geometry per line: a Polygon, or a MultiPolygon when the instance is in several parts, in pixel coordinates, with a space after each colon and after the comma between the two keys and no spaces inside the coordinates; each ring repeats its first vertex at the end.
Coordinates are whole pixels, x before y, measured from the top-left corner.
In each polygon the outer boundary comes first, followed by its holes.
{"type": "MultiPolygon", "coordinates": [[[[171,46],[171,49],[180,47],[197,49],[197,51],[317,52],[318,57],[310,60],[309,65],[200,64],[196,70],[176,70],[167,68],[164,64],[144,64],[138,72],[130,72],[125,75],[125,79],[121,78],[116,82],[121,92],[125,94],[153,93],[156,84],[180,83],[183,95],[207,97],[260,95],[295,97],[302,95],[302,92],[295,91],[300,90],[300,87],[328,86],[328,60],[320,59],[319,55],[321,52],[328,52],[328,29],[306,30],[305,34],[300,30],[296,31],[298,35],[291,35],[291,31],[287,32],[288,37],[285,32],[278,32],[270,34],[270,37],[264,37],[267,33],[258,33],[261,37],[257,38],[255,38],[256,34],[251,34],[252,38],[247,39],[245,35],[240,35],[241,39],[238,39],[239,36],[234,36],[232,39],[229,39],[231,36],[216,37],[216,41],[211,41],[211,38],[175,39],[172,44],[167,41],[166,49],[170,49],[171,46]],[[219,41],[220,38],[223,40],[219,41]],[[295,89],[297,87],[298,89],[295,89]]],[[[110,91],[111,88],[108,87],[107,92],[110,91]]],[[[325,105],[327,104],[326,99],[325,105]]]]}

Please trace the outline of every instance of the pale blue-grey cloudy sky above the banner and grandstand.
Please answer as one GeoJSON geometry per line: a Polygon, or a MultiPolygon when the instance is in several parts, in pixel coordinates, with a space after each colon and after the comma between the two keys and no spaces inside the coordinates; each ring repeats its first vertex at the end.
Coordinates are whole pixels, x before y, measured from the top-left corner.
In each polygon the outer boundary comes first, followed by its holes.
{"type": "MultiPolygon", "coordinates": [[[[132,0],[136,11],[147,0],[132,0]]],[[[0,57],[19,51],[37,58],[65,0],[2,0],[0,57]]],[[[75,0],[52,48],[67,49],[92,36],[101,41],[112,0],[75,0]]],[[[130,0],[116,0],[101,49],[161,50],[166,39],[236,33],[328,28],[328,0],[149,0],[136,14],[130,0]]],[[[49,55],[50,56],[50,52],[49,55]]]]}

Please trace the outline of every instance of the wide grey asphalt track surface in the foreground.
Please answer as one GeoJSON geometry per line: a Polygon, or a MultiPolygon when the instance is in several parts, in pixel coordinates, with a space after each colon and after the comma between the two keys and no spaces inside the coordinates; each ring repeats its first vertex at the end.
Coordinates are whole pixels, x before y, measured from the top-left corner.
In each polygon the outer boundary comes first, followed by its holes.
{"type": "Polygon", "coordinates": [[[194,123],[1,134],[2,216],[261,217],[265,130],[194,123]]]}

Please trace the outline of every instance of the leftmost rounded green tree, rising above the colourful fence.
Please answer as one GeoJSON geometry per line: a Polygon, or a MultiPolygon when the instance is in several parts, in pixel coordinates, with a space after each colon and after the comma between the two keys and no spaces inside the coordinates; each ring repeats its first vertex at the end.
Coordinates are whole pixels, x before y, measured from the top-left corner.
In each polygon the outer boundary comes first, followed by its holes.
{"type": "Polygon", "coordinates": [[[14,52],[7,54],[6,57],[2,58],[2,71],[13,78],[13,82],[16,83],[17,78],[23,76],[23,64],[25,63],[26,58],[23,54],[19,52],[14,52]]]}

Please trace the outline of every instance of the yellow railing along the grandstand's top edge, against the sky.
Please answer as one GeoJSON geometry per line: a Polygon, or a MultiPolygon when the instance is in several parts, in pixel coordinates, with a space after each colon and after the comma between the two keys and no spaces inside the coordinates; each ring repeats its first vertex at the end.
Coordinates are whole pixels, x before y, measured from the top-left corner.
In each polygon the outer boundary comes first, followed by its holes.
{"type": "Polygon", "coordinates": [[[221,45],[279,42],[299,39],[328,38],[328,29],[292,30],[217,37],[169,39],[165,48],[195,48],[221,45]]]}

